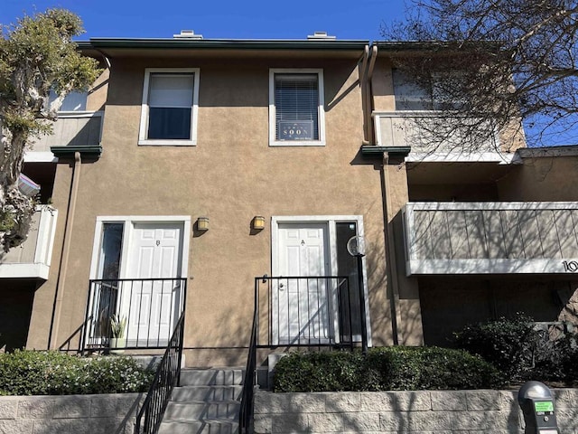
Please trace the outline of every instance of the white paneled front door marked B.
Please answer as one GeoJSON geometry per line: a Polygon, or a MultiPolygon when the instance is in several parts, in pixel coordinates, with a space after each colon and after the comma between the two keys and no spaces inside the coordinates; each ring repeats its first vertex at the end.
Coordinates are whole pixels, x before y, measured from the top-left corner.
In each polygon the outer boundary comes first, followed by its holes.
{"type": "Polygon", "coordinates": [[[123,285],[127,344],[166,344],[181,305],[182,223],[135,223],[123,285]],[[167,280],[155,280],[167,278],[167,280]],[[151,280],[147,280],[151,279],[151,280]]]}

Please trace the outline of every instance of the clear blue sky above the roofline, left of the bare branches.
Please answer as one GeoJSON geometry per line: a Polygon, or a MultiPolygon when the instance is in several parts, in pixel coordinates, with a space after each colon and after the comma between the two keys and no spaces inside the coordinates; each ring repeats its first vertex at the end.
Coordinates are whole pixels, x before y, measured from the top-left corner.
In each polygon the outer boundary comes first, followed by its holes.
{"type": "Polygon", "coordinates": [[[379,27],[405,14],[404,0],[0,0],[0,23],[70,9],[91,37],[171,38],[191,29],[206,39],[304,39],[327,31],[339,39],[379,40],[379,27]]]}

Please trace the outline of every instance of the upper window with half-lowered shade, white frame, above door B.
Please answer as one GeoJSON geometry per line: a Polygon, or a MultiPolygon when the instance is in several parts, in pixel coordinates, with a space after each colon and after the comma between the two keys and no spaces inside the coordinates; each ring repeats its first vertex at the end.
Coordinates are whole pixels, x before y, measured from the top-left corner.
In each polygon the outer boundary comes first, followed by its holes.
{"type": "Polygon", "coordinates": [[[144,73],[139,145],[196,145],[199,69],[144,73]]]}

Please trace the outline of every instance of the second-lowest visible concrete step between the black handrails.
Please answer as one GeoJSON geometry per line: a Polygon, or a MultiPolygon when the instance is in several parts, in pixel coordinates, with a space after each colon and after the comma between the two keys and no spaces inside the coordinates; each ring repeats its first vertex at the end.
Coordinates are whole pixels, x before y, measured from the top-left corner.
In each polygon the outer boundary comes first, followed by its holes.
{"type": "Polygon", "coordinates": [[[239,401],[170,401],[163,420],[238,420],[239,401]]]}

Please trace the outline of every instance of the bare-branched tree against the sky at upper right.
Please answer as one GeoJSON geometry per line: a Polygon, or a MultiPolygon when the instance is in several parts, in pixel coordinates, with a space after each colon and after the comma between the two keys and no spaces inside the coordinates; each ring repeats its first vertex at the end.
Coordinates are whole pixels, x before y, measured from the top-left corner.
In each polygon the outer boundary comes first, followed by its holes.
{"type": "Polygon", "coordinates": [[[575,0],[410,2],[406,21],[382,30],[423,49],[419,55],[400,50],[396,67],[438,99],[441,116],[424,126],[437,144],[460,137],[454,146],[463,146],[465,131],[472,150],[498,129],[510,132],[502,148],[517,147],[520,119],[530,127],[530,144],[548,145],[552,134],[575,140],[575,0]]]}

